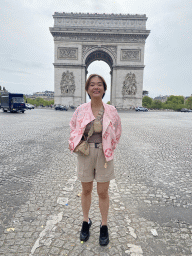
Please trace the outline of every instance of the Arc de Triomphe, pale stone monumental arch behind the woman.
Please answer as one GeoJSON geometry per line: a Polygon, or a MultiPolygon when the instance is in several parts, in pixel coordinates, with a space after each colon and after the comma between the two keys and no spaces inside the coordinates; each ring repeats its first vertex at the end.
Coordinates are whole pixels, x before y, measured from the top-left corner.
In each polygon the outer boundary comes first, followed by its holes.
{"type": "Polygon", "coordinates": [[[111,69],[111,104],[142,105],[146,15],[56,12],[53,18],[55,104],[84,103],[88,66],[103,60],[111,69]]]}

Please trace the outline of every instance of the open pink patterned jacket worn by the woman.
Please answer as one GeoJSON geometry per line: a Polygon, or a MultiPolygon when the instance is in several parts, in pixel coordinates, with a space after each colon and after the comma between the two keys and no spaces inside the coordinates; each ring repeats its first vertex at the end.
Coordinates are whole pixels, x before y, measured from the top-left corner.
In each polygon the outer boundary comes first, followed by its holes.
{"type": "MultiPolygon", "coordinates": [[[[121,120],[114,106],[105,104],[104,102],[103,106],[103,152],[105,154],[106,161],[110,161],[113,159],[114,149],[116,148],[121,137],[121,120]]],[[[70,121],[71,131],[69,148],[71,152],[73,152],[75,147],[80,142],[86,125],[94,119],[95,117],[92,113],[91,102],[84,103],[75,110],[70,121]]]]}

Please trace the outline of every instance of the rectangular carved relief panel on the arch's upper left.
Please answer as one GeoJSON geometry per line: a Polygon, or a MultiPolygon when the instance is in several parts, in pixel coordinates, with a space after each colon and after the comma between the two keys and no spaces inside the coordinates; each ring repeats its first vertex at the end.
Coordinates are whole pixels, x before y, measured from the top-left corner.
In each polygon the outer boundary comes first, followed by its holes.
{"type": "Polygon", "coordinates": [[[78,48],[71,47],[59,47],[57,52],[58,59],[77,60],[78,59],[78,48]]]}

